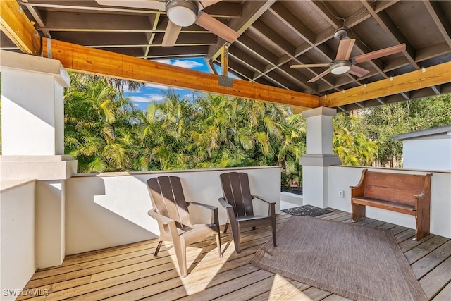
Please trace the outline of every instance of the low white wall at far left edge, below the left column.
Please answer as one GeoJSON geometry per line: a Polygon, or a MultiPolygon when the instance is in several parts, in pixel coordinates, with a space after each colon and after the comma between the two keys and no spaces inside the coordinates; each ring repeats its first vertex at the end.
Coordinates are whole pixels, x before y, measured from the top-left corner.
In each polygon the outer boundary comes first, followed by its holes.
{"type": "Polygon", "coordinates": [[[18,290],[35,273],[35,181],[1,183],[0,293],[16,300],[18,290]],[[16,295],[15,295],[16,293],[16,295]]]}

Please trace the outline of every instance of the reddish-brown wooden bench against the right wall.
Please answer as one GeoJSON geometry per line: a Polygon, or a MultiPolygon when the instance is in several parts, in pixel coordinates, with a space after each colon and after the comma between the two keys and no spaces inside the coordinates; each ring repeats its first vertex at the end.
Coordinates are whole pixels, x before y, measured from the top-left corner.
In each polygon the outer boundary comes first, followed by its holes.
{"type": "Polygon", "coordinates": [[[432,173],[408,175],[364,169],[357,186],[351,186],[352,221],[366,219],[366,206],[415,216],[415,240],[429,235],[432,173]]]}

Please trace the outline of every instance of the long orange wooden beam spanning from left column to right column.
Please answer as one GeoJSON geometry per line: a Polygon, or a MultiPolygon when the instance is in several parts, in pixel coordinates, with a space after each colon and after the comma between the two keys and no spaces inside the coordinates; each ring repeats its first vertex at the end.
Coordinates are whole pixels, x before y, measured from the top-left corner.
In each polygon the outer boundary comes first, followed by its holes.
{"type": "Polygon", "coordinates": [[[43,38],[42,55],[61,61],[65,68],[113,78],[152,82],[170,87],[224,94],[264,102],[316,108],[319,97],[233,79],[233,87],[218,85],[218,75],[146,61],[110,51],[43,38]],[[49,42],[48,42],[49,41],[49,42]],[[48,45],[51,49],[48,49],[48,45]],[[49,53],[51,51],[51,53],[49,53]]]}

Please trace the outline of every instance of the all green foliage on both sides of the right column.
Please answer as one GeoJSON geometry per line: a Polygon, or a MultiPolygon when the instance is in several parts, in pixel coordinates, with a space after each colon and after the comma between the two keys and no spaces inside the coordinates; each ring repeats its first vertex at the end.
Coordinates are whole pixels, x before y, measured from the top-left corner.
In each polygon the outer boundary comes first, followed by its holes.
{"type": "MultiPolygon", "coordinates": [[[[305,121],[287,106],[214,94],[190,101],[169,89],[163,102],[141,111],[117,88],[127,84],[70,73],[65,148],[78,159],[78,172],[276,165],[283,185],[302,183],[305,121]]],[[[402,144],[392,135],[451,124],[450,102],[447,94],[340,113],[334,152],[346,165],[395,166],[402,144]]]]}

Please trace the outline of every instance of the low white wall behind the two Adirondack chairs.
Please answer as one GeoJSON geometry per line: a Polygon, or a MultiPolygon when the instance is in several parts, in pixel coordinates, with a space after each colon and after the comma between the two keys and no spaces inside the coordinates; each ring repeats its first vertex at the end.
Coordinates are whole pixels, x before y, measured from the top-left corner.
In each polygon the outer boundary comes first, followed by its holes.
{"type": "MultiPolygon", "coordinates": [[[[187,201],[218,207],[220,223],[226,223],[226,210],[218,197],[223,195],[219,175],[228,171],[248,173],[252,193],[275,201],[276,212],[280,212],[278,167],[73,176],[66,180],[66,254],[158,237],[156,221],[147,215],[152,206],[146,180],[154,176],[180,177],[187,201]]],[[[209,222],[209,214],[208,210],[193,210],[193,222],[209,222]]]]}

